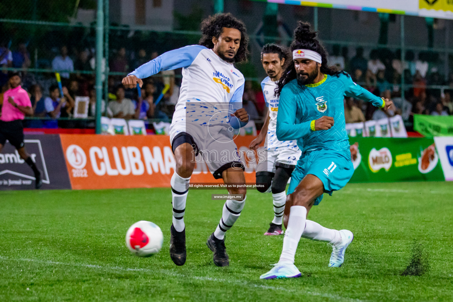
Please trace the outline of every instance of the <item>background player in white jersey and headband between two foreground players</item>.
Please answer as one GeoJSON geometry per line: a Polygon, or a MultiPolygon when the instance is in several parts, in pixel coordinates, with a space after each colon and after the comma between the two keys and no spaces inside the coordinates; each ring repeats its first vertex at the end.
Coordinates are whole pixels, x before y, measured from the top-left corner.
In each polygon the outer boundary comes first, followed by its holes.
{"type": "Polygon", "coordinates": [[[258,187],[258,191],[265,193],[272,191],[274,206],[274,219],[264,235],[283,234],[282,219],[286,202],[286,184],[301,155],[296,140],[280,141],[275,134],[277,125],[277,112],[279,110],[280,97],[275,96],[277,81],[283,72],[284,63],[289,55],[278,45],[266,44],[261,50],[261,63],[268,77],[261,82],[264,99],[268,105],[268,112],[261,132],[254,139],[249,148],[257,149],[265,140],[265,160],[256,167],[256,183],[265,184],[258,187]]]}

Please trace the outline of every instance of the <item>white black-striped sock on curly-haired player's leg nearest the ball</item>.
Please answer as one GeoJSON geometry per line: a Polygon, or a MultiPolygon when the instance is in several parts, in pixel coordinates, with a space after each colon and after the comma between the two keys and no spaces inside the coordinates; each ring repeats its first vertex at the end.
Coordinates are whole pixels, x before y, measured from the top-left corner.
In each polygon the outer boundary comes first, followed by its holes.
{"type": "Polygon", "coordinates": [[[171,177],[171,196],[173,205],[173,227],[177,232],[182,232],[184,225],[184,212],[186,210],[186,199],[188,194],[190,177],[180,177],[176,172],[171,177]]]}

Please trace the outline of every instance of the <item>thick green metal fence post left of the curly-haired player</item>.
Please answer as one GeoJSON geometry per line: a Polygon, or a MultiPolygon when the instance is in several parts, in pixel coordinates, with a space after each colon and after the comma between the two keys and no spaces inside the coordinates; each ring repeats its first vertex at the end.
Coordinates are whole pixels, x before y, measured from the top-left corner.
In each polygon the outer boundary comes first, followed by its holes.
{"type": "Polygon", "coordinates": [[[101,134],[102,110],[102,55],[104,43],[104,1],[97,0],[96,18],[96,134],[101,134]]]}

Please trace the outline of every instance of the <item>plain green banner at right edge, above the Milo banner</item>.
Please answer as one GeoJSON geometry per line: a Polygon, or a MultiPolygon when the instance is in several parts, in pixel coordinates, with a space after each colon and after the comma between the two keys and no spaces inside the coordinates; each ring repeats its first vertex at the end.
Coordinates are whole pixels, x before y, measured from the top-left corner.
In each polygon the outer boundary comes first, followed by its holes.
{"type": "Polygon", "coordinates": [[[414,114],[414,130],[426,137],[452,136],[453,115],[414,114]]]}

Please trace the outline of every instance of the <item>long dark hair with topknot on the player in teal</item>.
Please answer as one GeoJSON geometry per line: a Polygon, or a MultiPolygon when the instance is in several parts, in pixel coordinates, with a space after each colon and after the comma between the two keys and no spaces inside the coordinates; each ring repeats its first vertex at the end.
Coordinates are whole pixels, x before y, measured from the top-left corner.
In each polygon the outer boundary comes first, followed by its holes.
{"type": "MultiPolygon", "coordinates": [[[[346,72],[338,71],[337,67],[335,66],[328,66],[327,65],[327,56],[328,53],[324,48],[323,44],[321,44],[316,38],[318,32],[310,30],[310,24],[308,22],[299,21],[298,26],[294,29],[294,41],[291,43],[290,49],[293,52],[296,49],[308,49],[314,52],[317,52],[321,55],[322,63],[320,71],[324,74],[328,74],[330,76],[338,76],[341,73],[347,74],[346,72]]],[[[294,80],[297,76],[296,69],[294,67],[294,63],[289,64],[286,67],[285,71],[282,73],[280,81],[277,82],[277,88],[275,88],[275,95],[280,96],[280,92],[283,89],[283,86],[288,84],[290,81],[294,80]]]]}

